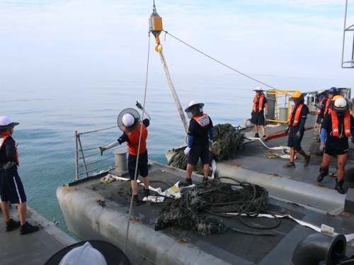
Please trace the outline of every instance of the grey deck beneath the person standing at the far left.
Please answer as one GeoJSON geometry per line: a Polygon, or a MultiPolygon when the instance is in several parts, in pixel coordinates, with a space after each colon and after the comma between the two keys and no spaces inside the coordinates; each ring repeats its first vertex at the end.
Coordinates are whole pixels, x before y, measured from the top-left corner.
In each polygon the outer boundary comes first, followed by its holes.
{"type": "MultiPolygon", "coordinates": [[[[10,215],[13,220],[19,220],[16,205],[10,208],[10,215]]],[[[42,217],[39,217],[33,210],[28,210],[27,220],[32,225],[39,223],[40,230],[27,235],[20,235],[20,227],[6,232],[6,223],[2,213],[0,218],[0,264],[45,264],[50,256],[66,247],[43,228],[48,226],[48,221],[43,221],[42,217]]],[[[76,241],[72,239],[72,243],[74,242],[76,241]]]]}

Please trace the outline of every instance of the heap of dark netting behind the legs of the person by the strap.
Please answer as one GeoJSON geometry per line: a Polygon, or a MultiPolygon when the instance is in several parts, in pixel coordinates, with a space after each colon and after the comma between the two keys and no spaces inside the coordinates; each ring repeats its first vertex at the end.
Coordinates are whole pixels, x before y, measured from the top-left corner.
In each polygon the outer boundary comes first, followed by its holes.
{"type": "MultiPolygon", "coordinates": [[[[234,159],[234,155],[244,149],[243,142],[243,136],[231,124],[215,125],[214,140],[212,147],[210,147],[210,164],[213,159],[217,161],[234,159]]],[[[187,169],[188,157],[184,154],[183,150],[184,148],[176,150],[176,154],[173,154],[173,157],[169,161],[169,166],[184,170],[187,169]]],[[[193,171],[203,174],[203,165],[200,160],[193,167],[193,171]]],[[[210,170],[209,176],[212,176],[212,170],[210,170]]]]}

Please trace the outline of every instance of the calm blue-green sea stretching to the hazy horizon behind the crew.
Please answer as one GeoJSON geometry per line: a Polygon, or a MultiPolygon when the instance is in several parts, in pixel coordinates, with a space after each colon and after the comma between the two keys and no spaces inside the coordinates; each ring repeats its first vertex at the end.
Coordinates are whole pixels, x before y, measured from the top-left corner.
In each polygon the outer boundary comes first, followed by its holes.
{"type": "MultiPolygon", "coordinates": [[[[349,77],[252,77],[277,89],[354,87],[354,80],[349,77]]],[[[250,118],[253,89],[256,86],[268,89],[240,74],[175,74],[172,81],[183,110],[192,100],[205,103],[204,112],[215,125],[240,125],[244,118],[250,118]]],[[[152,117],[147,140],[149,159],[166,164],[164,153],[183,145],[185,138],[185,128],[162,69],[161,74],[149,74],[147,79],[146,74],[1,72],[0,91],[0,115],[10,115],[14,122],[20,123],[13,137],[18,143],[21,162],[18,172],[28,205],[48,220],[55,218],[66,232],[56,190],[75,178],[75,131],[113,127],[120,111],[135,108],[136,101],[142,104],[145,101],[152,117]]],[[[96,147],[95,152],[99,152],[99,146],[108,145],[121,134],[119,128],[113,128],[87,138],[83,135],[81,141],[83,148],[96,147]]],[[[110,156],[109,163],[114,164],[111,152],[110,156]]],[[[99,154],[95,159],[100,159],[99,154]]]]}

